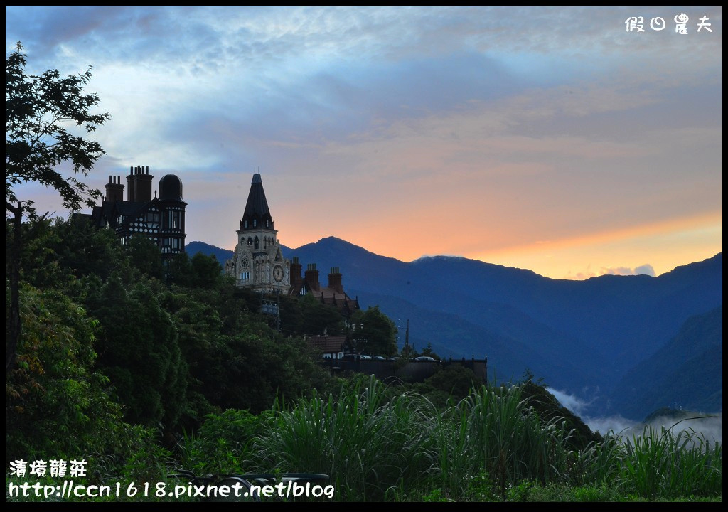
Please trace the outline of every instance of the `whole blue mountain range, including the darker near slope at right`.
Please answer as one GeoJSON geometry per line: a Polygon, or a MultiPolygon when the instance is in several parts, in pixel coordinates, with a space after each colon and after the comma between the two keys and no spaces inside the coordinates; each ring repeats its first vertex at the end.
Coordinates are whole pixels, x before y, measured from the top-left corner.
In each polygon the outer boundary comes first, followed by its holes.
{"type": "MultiPolygon", "coordinates": [[[[232,257],[202,242],[186,249],[214,254],[221,264],[232,257]]],[[[722,253],[659,277],[583,281],[451,256],[405,263],[336,237],[283,253],[304,268],[316,263],[323,283],[339,267],[349,296],[364,308],[379,305],[397,323],[400,344],[409,320],[416,347],[429,343],[443,357],[487,356],[491,378],[518,379],[529,370],[550,387],[593,400],[595,414],[633,420],[678,401],[722,410],[722,253]],[[701,321],[709,325],[697,327],[701,321]],[[668,386],[678,382],[678,389],[668,386]]]]}

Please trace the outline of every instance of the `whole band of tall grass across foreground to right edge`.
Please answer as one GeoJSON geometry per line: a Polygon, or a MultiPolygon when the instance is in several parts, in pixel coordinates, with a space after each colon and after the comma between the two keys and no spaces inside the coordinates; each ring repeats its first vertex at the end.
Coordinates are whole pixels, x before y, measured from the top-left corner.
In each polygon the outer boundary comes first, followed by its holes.
{"type": "Polygon", "coordinates": [[[341,501],[525,500],[568,489],[581,493],[574,500],[722,496],[721,444],[646,427],[574,452],[565,422],[542,420],[518,386],[473,388],[439,408],[371,377],[276,406],[264,420],[238,413],[211,425],[198,448],[245,472],[326,473],[341,501]]]}

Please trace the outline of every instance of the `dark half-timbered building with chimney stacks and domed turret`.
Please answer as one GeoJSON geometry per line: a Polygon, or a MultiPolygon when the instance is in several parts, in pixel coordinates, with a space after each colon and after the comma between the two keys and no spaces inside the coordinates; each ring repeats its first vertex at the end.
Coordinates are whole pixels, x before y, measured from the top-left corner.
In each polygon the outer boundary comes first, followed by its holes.
{"type": "Polygon", "coordinates": [[[162,259],[184,252],[185,207],[182,181],[174,174],[159,180],[159,197],[152,194],[149,167],[131,167],[127,176],[127,199],[121,176],[109,176],[106,195],[89,217],[96,227],[114,229],[122,245],[135,236],[148,237],[159,246],[162,259]]]}

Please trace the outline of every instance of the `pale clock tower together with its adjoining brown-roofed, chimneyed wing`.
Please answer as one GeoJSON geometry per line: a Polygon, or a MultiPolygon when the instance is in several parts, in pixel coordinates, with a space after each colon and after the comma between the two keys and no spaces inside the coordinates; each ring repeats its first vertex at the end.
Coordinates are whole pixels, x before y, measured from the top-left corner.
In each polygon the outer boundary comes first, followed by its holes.
{"type": "Polygon", "coordinates": [[[253,173],[248,202],[237,230],[237,245],[232,259],[225,263],[225,273],[234,277],[240,288],[259,293],[312,294],[323,304],[336,307],[345,318],[360,309],[358,300],[344,291],[339,267],[331,269],[327,286],[321,285],[314,263],[308,264],[305,274],[301,275],[298,258],[293,257],[290,261],[283,257],[277,234],[263,180],[259,173],[253,173]]]}

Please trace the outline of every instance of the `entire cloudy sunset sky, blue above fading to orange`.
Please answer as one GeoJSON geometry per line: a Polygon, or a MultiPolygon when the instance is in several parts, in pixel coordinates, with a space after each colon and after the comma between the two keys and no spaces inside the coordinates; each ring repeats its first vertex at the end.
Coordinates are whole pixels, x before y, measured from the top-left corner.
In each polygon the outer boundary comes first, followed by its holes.
{"type": "MultiPolygon", "coordinates": [[[[290,248],[336,236],[571,279],[722,251],[722,7],[5,13],[28,73],[93,66],[111,119],[87,183],[176,174],[188,243],[234,248],[260,168],[290,248]]],[[[53,191],[18,197],[67,215],[53,191]]]]}

